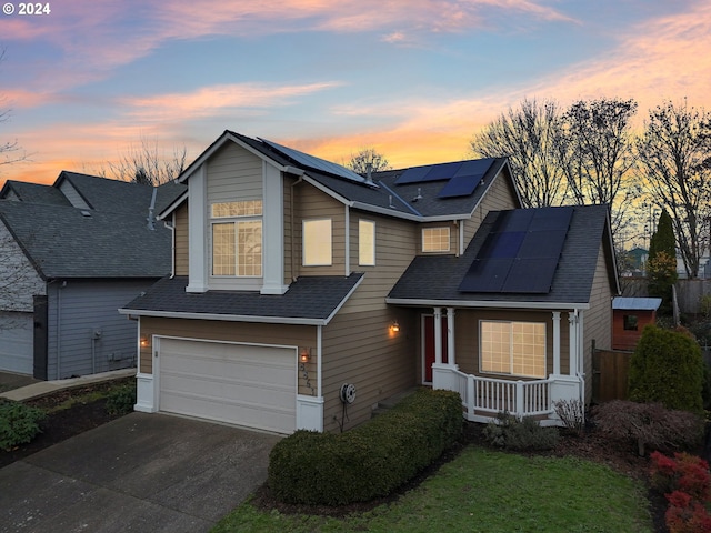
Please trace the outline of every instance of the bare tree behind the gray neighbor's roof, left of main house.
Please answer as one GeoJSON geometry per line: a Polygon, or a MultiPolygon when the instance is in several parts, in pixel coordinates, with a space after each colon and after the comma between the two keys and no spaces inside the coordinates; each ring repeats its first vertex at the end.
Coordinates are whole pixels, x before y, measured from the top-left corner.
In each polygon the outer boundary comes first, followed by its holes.
{"type": "Polygon", "coordinates": [[[158,141],[141,139],[140,145],[130,144],[118,161],[109,161],[98,173],[104,178],[132,181],[147,185],[160,185],[174,180],[186,168],[188,151],[174,149],[167,155],[158,145],[158,141]]]}

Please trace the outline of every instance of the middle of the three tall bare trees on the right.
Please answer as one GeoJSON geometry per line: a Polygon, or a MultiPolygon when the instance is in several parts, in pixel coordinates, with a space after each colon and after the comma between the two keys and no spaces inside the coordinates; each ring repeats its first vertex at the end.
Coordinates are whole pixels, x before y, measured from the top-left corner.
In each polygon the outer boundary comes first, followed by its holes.
{"type": "Polygon", "coordinates": [[[601,203],[611,209],[612,232],[630,222],[630,200],[639,194],[632,181],[634,100],[600,99],[574,102],[562,118],[558,160],[577,204],[601,203]]]}

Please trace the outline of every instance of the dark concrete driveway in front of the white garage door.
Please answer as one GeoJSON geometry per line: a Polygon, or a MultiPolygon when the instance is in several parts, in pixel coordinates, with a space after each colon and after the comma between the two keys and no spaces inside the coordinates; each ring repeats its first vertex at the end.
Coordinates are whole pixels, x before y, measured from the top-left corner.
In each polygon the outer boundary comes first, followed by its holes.
{"type": "Polygon", "coordinates": [[[267,479],[280,436],[131,413],[0,469],[0,532],[203,532],[267,479]]]}

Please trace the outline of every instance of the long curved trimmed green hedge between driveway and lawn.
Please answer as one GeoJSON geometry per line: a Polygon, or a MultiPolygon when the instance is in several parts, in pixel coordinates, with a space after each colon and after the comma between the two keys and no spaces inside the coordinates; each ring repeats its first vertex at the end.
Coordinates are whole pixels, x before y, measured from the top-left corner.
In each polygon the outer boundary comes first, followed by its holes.
{"type": "Polygon", "coordinates": [[[269,456],[268,484],[284,503],[344,505],[385,496],[438,459],[462,433],[458,393],[419,390],[346,433],[300,430],[269,456]]]}

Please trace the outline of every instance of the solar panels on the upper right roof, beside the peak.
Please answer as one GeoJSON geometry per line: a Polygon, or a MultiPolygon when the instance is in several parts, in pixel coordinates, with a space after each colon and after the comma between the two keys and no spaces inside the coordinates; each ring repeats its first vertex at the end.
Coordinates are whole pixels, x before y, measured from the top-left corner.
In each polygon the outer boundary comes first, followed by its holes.
{"type": "Polygon", "coordinates": [[[395,181],[395,185],[447,181],[438,194],[439,198],[468,197],[474,192],[493,162],[492,158],[488,158],[414,167],[405,170],[395,181]]]}

